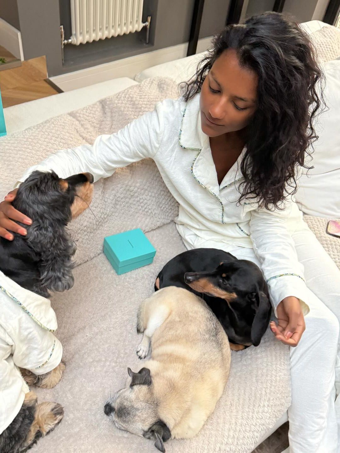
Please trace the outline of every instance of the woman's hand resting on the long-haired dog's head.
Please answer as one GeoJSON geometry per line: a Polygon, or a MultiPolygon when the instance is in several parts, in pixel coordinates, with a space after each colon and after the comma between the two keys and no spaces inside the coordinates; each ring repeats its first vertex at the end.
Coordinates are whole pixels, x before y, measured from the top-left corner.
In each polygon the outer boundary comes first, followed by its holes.
{"type": "Polygon", "coordinates": [[[0,203],[0,237],[4,237],[9,241],[13,241],[14,239],[10,231],[21,234],[22,236],[26,236],[27,234],[25,228],[13,222],[13,220],[24,223],[25,225],[32,225],[32,220],[29,217],[17,211],[12,206],[12,201],[15,199],[17,192],[18,189],[12,190],[5,196],[5,200],[0,203]]]}

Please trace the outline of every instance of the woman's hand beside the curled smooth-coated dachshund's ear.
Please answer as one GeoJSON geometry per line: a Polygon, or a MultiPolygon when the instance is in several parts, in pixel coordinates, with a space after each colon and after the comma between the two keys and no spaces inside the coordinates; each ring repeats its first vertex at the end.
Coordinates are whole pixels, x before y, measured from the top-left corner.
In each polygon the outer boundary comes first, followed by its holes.
{"type": "Polygon", "coordinates": [[[296,347],[306,329],[299,299],[288,296],[278,304],[277,322],[270,323],[275,337],[288,346],[296,347]]]}

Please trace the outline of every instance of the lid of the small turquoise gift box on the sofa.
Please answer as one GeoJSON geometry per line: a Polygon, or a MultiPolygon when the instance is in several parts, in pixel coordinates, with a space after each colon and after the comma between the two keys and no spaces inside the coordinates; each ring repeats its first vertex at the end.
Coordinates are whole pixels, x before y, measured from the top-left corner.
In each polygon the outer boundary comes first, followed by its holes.
{"type": "Polygon", "coordinates": [[[155,256],[156,249],[140,228],[104,238],[104,247],[119,266],[136,263],[155,256]]]}

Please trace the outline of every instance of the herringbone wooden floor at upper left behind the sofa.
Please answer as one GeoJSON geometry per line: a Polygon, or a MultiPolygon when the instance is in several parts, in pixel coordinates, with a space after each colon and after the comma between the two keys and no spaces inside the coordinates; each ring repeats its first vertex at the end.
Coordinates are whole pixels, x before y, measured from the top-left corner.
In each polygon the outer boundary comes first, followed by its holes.
{"type": "Polygon", "coordinates": [[[5,107],[58,94],[47,80],[46,58],[23,61],[20,67],[0,71],[0,91],[5,107]]]}

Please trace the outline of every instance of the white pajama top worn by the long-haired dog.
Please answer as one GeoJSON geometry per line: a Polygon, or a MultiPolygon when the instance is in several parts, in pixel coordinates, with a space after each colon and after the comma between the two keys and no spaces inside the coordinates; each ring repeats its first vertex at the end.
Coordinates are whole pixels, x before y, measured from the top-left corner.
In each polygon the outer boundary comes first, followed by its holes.
{"type": "Polygon", "coordinates": [[[19,367],[41,375],[60,363],[63,348],[52,333],[56,328],[49,299],[0,271],[0,434],[15,419],[29,391],[19,367]]]}

